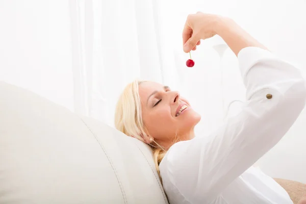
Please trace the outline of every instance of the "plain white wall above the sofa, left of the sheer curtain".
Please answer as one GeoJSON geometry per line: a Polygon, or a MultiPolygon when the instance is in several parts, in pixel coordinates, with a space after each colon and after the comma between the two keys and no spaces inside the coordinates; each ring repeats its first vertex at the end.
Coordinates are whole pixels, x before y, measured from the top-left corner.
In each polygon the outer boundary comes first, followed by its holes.
{"type": "Polygon", "coordinates": [[[0,1],[0,80],[73,110],[68,1],[0,1]]]}

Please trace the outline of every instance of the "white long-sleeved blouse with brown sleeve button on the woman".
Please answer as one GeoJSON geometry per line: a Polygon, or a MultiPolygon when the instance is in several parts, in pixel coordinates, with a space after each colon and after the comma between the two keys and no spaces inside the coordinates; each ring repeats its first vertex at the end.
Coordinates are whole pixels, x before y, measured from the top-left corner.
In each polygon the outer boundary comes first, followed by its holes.
{"type": "Polygon", "coordinates": [[[171,204],[292,203],[281,186],[252,165],[304,108],[301,72],[258,47],[240,50],[238,61],[246,87],[242,111],[208,137],[175,143],[160,164],[171,204]]]}

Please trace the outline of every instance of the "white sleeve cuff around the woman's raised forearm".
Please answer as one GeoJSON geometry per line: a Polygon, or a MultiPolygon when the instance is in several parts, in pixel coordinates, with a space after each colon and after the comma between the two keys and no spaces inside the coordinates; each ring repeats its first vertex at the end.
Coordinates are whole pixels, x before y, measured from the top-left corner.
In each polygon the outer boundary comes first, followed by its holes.
{"type": "Polygon", "coordinates": [[[259,47],[245,47],[238,53],[238,63],[244,84],[249,69],[260,61],[278,59],[274,54],[259,47]]]}

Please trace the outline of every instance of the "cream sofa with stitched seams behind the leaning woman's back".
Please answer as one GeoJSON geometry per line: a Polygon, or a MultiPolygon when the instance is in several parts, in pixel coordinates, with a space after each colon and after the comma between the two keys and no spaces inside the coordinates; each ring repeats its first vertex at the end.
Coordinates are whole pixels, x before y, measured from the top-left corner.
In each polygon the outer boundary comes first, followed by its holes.
{"type": "Polygon", "coordinates": [[[142,142],[0,82],[0,204],[168,203],[151,158],[142,142]]]}

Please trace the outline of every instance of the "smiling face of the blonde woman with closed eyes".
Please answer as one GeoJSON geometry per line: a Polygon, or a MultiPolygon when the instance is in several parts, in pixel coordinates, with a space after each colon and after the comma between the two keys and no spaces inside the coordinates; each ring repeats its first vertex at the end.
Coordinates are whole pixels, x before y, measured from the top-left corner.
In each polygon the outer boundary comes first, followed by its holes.
{"type": "Polygon", "coordinates": [[[160,145],[168,148],[176,140],[194,137],[194,126],[201,116],[179,92],[155,82],[143,82],[139,85],[139,96],[144,125],[160,145]]]}

